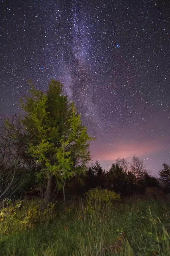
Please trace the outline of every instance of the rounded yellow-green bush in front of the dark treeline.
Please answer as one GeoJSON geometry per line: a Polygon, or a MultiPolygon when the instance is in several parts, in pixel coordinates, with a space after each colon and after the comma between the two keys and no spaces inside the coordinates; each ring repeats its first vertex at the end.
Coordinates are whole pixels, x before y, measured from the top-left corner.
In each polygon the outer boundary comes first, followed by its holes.
{"type": "Polygon", "coordinates": [[[116,194],[114,191],[109,191],[107,189],[101,189],[99,187],[92,188],[86,192],[86,195],[90,200],[97,200],[99,202],[105,201],[108,204],[113,200],[120,200],[119,194],[116,194]]]}

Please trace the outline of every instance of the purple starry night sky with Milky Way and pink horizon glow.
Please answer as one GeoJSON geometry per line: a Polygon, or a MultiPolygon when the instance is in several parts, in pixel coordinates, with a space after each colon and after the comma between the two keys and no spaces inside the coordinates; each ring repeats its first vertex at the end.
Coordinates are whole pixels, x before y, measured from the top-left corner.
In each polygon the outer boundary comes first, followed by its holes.
{"type": "Polygon", "coordinates": [[[94,162],[170,163],[170,4],[150,0],[0,1],[0,115],[28,79],[55,78],[75,101],[94,162]]]}

